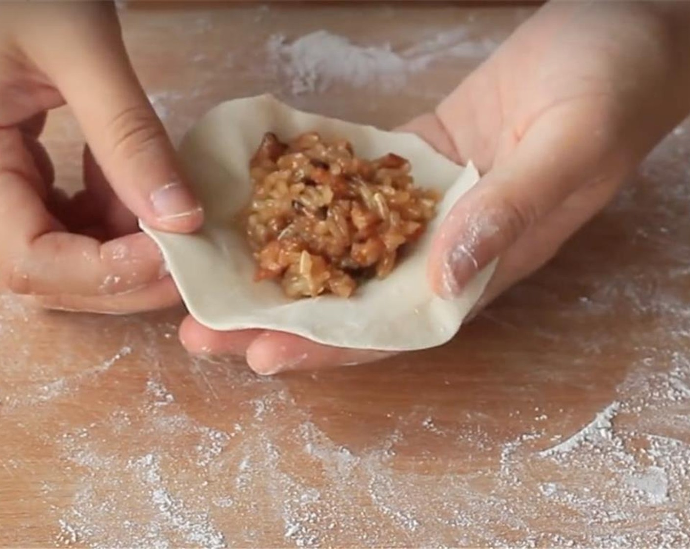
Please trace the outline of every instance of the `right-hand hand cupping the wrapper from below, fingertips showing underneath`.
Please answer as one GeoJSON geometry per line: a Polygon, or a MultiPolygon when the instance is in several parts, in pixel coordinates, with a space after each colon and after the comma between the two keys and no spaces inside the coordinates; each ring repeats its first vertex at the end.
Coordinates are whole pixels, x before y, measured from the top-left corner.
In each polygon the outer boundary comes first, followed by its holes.
{"type": "MultiPolygon", "coordinates": [[[[403,128],[484,174],[433,243],[428,275],[440,296],[453,299],[497,257],[480,307],[538,269],[688,112],[690,70],[678,63],[690,44],[679,46],[687,33],[679,24],[673,35],[673,14],[662,11],[642,3],[546,6],[435,113],[403,128]]],[[[193,352],[246,354],[261,374],[384,356],[274,331],[219,333],[191,318],[180,335],[193,352]]]]}

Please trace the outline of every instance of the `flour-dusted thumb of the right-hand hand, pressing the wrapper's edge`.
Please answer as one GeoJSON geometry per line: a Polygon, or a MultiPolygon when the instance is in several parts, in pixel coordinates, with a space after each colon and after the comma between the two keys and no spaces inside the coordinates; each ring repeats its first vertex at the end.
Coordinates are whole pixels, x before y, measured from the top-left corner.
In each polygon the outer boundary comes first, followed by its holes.
{"type": "Polygon", "coordinates": [[[458,200],[429,258],[431,285],[440,296],[459,296],[478,271],[506,253],[573,191],[619,171],[622,159],[612,151],[616,139],[582,128],[583,120],[605,117],[603,109],[594,114],[555,108],[535,121],[515,149],[458,200]]]}

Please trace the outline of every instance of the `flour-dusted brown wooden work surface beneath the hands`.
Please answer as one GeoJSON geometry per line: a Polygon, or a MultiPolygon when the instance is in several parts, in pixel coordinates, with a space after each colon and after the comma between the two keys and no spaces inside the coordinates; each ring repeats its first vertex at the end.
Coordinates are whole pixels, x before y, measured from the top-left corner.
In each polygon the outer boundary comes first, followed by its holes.
{"type": "MultiPolygon", "coordinates": [[[[121,13],[175,139],[267,90],[392,127],[530,12],[204,9],[121,13]],[[349,39],[337,47],[361,70],[296,70],[310,65],[295,41],[318,30],[317,44],[349,39]]],[[[80,142],[52,115],[68,189],[80,142]]],[[[0,545],[689,546],[689,152],[681,126],[548,267],[446,347],[380,365],[257,378],[187,356],[181,310],[48,314],[2,297],[0,545]]]]}

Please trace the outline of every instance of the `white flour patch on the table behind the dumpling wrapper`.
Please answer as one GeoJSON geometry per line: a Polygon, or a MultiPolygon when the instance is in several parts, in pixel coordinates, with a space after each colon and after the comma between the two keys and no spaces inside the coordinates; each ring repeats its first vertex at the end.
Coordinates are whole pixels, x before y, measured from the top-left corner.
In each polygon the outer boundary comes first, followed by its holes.
{"type": "Polygon", "coordinates": [[[362,46],[346,37],[317,30],[288,41],[284,35],[268,40],[268,60],[277,75],[290,82],[290,93],[324,93],[337,84],[353,88],[375,86],[392,93],[408,77],[443,58],[487,57],[497,46],[491,39],[466,39],[464,27],[437,35],[400,52],[390,44],[362,46]]]}

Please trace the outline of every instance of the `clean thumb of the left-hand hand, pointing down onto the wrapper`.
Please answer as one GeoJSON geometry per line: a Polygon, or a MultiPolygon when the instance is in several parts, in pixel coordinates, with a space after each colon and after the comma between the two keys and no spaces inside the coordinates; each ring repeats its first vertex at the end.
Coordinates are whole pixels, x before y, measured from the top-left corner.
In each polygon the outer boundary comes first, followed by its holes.
{"type": "Polygon", "coordinates": [[[203,221],[201,204],[130,65],[115,14],[96,10],[77,32],[67,30],[61,47],[46,52],[46,70],[112,189],[150,227],[195,231],[203,221]]]}

